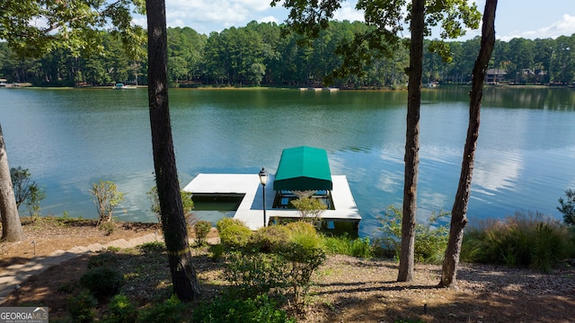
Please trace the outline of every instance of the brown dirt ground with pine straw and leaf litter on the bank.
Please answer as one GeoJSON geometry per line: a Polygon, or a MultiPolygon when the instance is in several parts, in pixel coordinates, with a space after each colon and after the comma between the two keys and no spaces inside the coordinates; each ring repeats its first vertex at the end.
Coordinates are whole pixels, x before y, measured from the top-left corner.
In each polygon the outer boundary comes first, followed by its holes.
{"type": "MultiPolygon", "coordinates": [[[[111,236],[92,225],[49,228],[24,225],[27,240],[0,244],[2,267],[56,249],[130,239],[155,231],[155,225],[118,223],[111,236]]],[[[67,261],[31,277],[0,306],[50,307],[63,310],[58,295],[64,284],[78,280],[89,256],[67,261]]],[[[220,268],[209,258],[196,258],[195,266],[204,290],[221,281],[220,268]]],[[[546,275],[528,269],[503,266],[462,265],[456,289],[438,288],[440,266],[416,265],[412,283],[397,283],[397,266],[383,259],[329,257],[314,277],[304,310],[291,312],[298,322],[575,322],[575,269],[562,266],[546,275]]],[[[165,266],[166,276],[169,269],[165,266]]],[[[0,269],[0,275],[2,269],[0,269]]],[[[204,297],[210,297],[210,292],[204,297]],[[209,296],[206,296],[209,295],[209,296]]]]}

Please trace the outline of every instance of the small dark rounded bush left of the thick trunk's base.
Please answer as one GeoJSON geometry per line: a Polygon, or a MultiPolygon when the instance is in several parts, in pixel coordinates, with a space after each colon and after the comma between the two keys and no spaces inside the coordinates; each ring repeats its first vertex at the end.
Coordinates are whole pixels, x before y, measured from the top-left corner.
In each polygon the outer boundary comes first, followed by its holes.
{"type": "Polygon", "coordinates": [[[108,267],[93,267],[80,277],[80,284],[98,299],[113,296],[124,284],[124,276],[108,267]]]}

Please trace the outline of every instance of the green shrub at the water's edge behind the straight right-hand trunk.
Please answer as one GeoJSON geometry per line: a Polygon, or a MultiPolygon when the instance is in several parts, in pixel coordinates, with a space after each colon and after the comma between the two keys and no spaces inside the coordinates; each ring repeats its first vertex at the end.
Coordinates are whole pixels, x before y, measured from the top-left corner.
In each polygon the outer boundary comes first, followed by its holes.
{"type": "MultiPolygon", "coordinates": [[[[439,214],[432,213],[429,215],[428,223],[415,224],[415,260],[424,263],[438,264],[443,261],[445,249],[447,248],[447,239],[449,227],[448,223],[439,224],[439,219],[447,217],[446,212],[439,214]]],[[[390,205],[385,212],[385,218],[379,218],[382,224],[378,231],[384,233],[383,237],[378,238],[376,243],[382,249],[388,252],[388,256],[399,258],[401,252],[402,237],[402,210],[390,205]]]]}

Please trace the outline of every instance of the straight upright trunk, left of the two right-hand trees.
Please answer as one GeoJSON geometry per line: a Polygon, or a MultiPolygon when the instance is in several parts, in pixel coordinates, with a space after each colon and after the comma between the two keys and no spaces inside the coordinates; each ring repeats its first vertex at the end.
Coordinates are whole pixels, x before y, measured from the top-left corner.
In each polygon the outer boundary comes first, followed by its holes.
{"type": "Polygon", "coordinates": [[[407,89],[407,130],[405,135],[405,181],[403,186],[402,250],[398,282],[413,280],[415,221],[417,214],[417,175],[420,164],[421,74],[423,71],[423,31],[425,0],[413,0],[411,7],[411,47],[407,89]]]}

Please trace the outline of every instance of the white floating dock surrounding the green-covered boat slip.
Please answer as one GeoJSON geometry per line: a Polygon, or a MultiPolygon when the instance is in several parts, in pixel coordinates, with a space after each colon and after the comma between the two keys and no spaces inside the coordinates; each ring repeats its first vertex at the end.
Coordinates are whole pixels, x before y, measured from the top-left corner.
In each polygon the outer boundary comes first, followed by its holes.
{"type": "MultiPolygon", "coordinates": [[[[275,176],[270,174],[266,185],[266,218],[263,218],[263,190],[258,174],[206,174],[200,173],[183,188],[192,195],[201,196],[243,196],[234,212],[234,219],[245,223],[251,230],[260,229],[270,219],[296,219],[300,214],[295,209],[270,208],[273,205],[275,176]]],[[[332,175],[333,209],[325,210],[321,216],[328,222],[350,222],[357,228],[361,215],[351,195],[345,175],[332,175]]]]}

